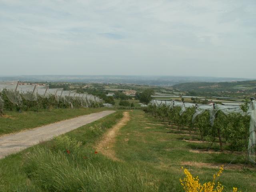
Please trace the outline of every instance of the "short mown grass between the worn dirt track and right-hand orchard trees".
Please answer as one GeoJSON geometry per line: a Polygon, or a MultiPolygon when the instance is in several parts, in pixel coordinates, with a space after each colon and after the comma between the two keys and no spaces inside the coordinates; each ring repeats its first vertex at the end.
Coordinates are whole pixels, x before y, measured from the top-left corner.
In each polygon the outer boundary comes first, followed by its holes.
{"type": "MultiPolygon", "coordinates": [[[[134,111],[131,115],[130,123],[122,128],[118,135],[115,148],[118,158],[128,164],[136,164],[141,172],[146,170],[152,182],[160,181],[159,187],[162,187],[162,191],[182,191],[179,183],[179,178],[183,176],[180,162],[213,164],[230,162],[243,164],[245,162],[244,155],[189,152],[192,149],[206,149],[209,144],[185,142],[181,138],[188,139],[188,136],[167,134],[170,132],[166,129],[167,126],[146,124],[144,121],[153,122],[156,119],[141,111],[134,111]]],[[[212,148],[219,150],[218,144],[214,144],[212,148]]],[[[211,180],[212,175],[217,172],[217,169],[212,168],[184,167],[190,169],[194,176],[199,176],[202,182],[211,180]]],[[[218,181],[225,186],[227,191],[233,186],[237,186],[243,192],[255,191],[256,169],[224,170],[218,181]]]]}

